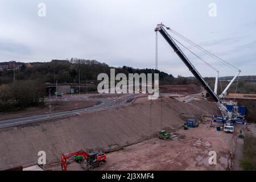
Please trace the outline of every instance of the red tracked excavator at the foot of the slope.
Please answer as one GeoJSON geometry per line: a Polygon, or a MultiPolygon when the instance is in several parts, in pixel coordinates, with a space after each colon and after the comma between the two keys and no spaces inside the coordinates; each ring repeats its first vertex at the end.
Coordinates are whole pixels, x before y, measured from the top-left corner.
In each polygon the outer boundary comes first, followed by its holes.
{"type": "Polygon", "coordinates": [[[85,151],[77,151],[69,154],[63,154],[61,156],[61,169],[67,171],[67,164],[73,161],[82,164],[85,170],[92,170],[94,166],[103,166],[106,162],[106,154],[104,152],[90,152],[89,154],[85,151]]]}

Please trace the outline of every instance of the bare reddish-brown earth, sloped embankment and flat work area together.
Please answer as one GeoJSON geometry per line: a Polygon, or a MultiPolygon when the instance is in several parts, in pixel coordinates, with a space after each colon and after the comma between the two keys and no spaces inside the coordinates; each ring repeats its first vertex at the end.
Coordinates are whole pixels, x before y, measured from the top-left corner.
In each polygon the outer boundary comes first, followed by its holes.
{"type": "MultiPolygon", "coordinates": [[[[83,149],[106,153],[108,162],[95,170],[230,170],[237,135],[209,127],[212,115],[221,113],[200,94],[188,103],[171,94],[155,101],[141,97],[126,106],[2,128],[0,168],[34,166],[42,150],[44,169],[61,170],[62,154],[83,149]],[[184,130],[189,118],[200,124],[184,130]],[[163,129],[170,133],[166,140],[158,138],[163,129]],[[212,150],[218,165],[208,163],[212,150]]],[[[68,170],[84,168],[71,163],[68,170]]]]}

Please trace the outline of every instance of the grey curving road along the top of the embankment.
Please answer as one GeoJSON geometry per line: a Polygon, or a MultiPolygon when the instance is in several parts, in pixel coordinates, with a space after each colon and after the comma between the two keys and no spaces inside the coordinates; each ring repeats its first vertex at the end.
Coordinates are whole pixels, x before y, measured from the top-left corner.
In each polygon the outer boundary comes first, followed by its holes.
{"type": "MultiPolygon", "coordinates": [[[[76,99],[79,100],[95,100],[97,101],[97,104],[85,108],[79,108],[75,110],[68,110],[68,111],[59,111],[56,113],[51,114],[42,114],[42,115],[35,115],[31,117],[20,117],[20,118],[14,118],[14,119],[6,119],[0,121],[0,128],[2,127],[9,127],[9,126],[16,126],[21,125],[25,123],[31,123],[31,122],[38,122],[38,121],[45,121],[47,119],[53,119],[53,118],[59,118],[59,117],[67,117],[71,115],[76,115],[80,113],[90,112],[90,111],[96,111],[96,110],[103,110],[103,109],[109,109],[113,107],[123,106],[130,104],[133,102],[137,97],[143,97],[142,94],[127,94],[122,97],[116,98],[114,100],[112,97],[109,98],[89,98],[89,97],[76,97],[76,99]]],[[[70,99],[70,98],[64,98],[64,99],[70,99]]]]}

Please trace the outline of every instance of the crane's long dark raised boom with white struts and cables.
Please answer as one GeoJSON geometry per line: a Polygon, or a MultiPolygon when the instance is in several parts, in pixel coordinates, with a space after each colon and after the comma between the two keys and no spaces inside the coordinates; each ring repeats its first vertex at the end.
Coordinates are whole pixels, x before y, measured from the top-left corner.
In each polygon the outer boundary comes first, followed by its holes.
{"type": "Polygon", "coordinates": [[[180,59],[183,61],[183,63],[188,67],[189,71],[191,71],[191,73],[196,77],[196,79],[200,82],[200,84],[204,87],[204,89],[207,91],[207,93],[213,98],[214,102],[216,102],[216,104],[218,105],[219,109],[221,110],[222,116],[225,119],[236,119],[238,117],[237,114],[234,114],[232,112],[230,112],[227,108],[226,108],[226,104],[224,101],[222,101],[222,97],[224,97],[226,95],[226,91],[229,89],[229,87],[232,85],[232,83],[234,82],[234,80],[236,80],[236,78],[240,75],[241,70],[234,67],[233,65],[227,63],[226,61],[222,60],[220,57],[217,57],[216,55],[213,55],[212,53],[210,53],[209,51],[205,50],[204,48],[200,47],[199,45],[193,43],[191,40],[189,40],[188,38],[185,38],[185,36],[179,34],[178,32],[176,32],[175,30],[172,30],[170,27],[166,27],[164,26],[164,24],[160,23],[156,26],[155,28],[155,32],[156,32],[156,60],[158,60],[158,32],[160,32],[160,34],[163,36],[164,39],[166,39],[166,41],[168,42],[168,44],[170,44],[170,46],[172,47],[172,49],[174,49],[174,52],[180,57],[180,59]],[[229,84],[226,86],[226,88],[223,90],[223,92],[220,94],[220,96],[217,96],[217,85],[218,85],[218,70],[214,67],[212,67],[212,65],[208,64],[206,61],[204,61],[203,59],[201,59],[201,57],[197,56],[195,53],[193,53],[191,50],[189,50],[187,47],[185,47],[183,44],[181,44],[178,40],[176,40],[173,36],[169,35],[167,33],[167,30],[170,31],[172,34],[174,34],[175,36],[178,36],[179,38],[185,40],[187,43],[191,44],[192,46],[196,47],[197,49],[200,49],[200,51],[203,51],[205,54],[207,54],[208,56],[212,57],[213,59],[216,59],[217,61],[219,61],[222,64],[225,64],[226,66],[234,69],[237,71],[237,74],[233,77],[233,79],[229,82],[229,84]],[[187,56],[185,56],[185,54],[183,53],[183,51],[181,51],[181,49],[177,46],[177,44],[175,43],[175,41],[177,43],[179,43],[181,46],[185,47],[189,52],[191,52],[193,55],[195,55],[198,59],[200,59],[201,61],[204,61],[205,64],[208,64],[211,68],[213,68],[216,72],[217,72],[217,76],[216,76],[216,80],[215,80],[215,86],[214,86],[214,92],[213,90],[210,88],[210,86],[208,85],[208,83],[204,80],[204,78],[200,75],[200,73],[197,71],[197,69],[193,66],[193,64],[191,63],[191,61],[188,60],[187,56]]]}

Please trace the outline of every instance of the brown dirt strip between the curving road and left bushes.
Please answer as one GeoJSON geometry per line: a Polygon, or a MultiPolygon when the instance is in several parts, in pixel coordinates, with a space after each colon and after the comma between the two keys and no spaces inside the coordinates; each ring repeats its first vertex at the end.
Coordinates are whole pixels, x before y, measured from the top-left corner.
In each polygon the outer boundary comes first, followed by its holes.
{"type": "MultiPolygon", "coordinates": [[[[65,111],[75,109],[75,104],[79,105],[79,108],[89,107],[96,104],[97,101],[52,101],[51,102],[51,113],[55,113],[58,111],[65,111]]],[[[3,119],[11,119],[16,117],[27,117],[33,116],[37,114],[47,114],[49,113],[49,102],[42,107],[29,107],[26,110],[9,112],[9,113],[0,113],[0,121],[3,119]]]]}

